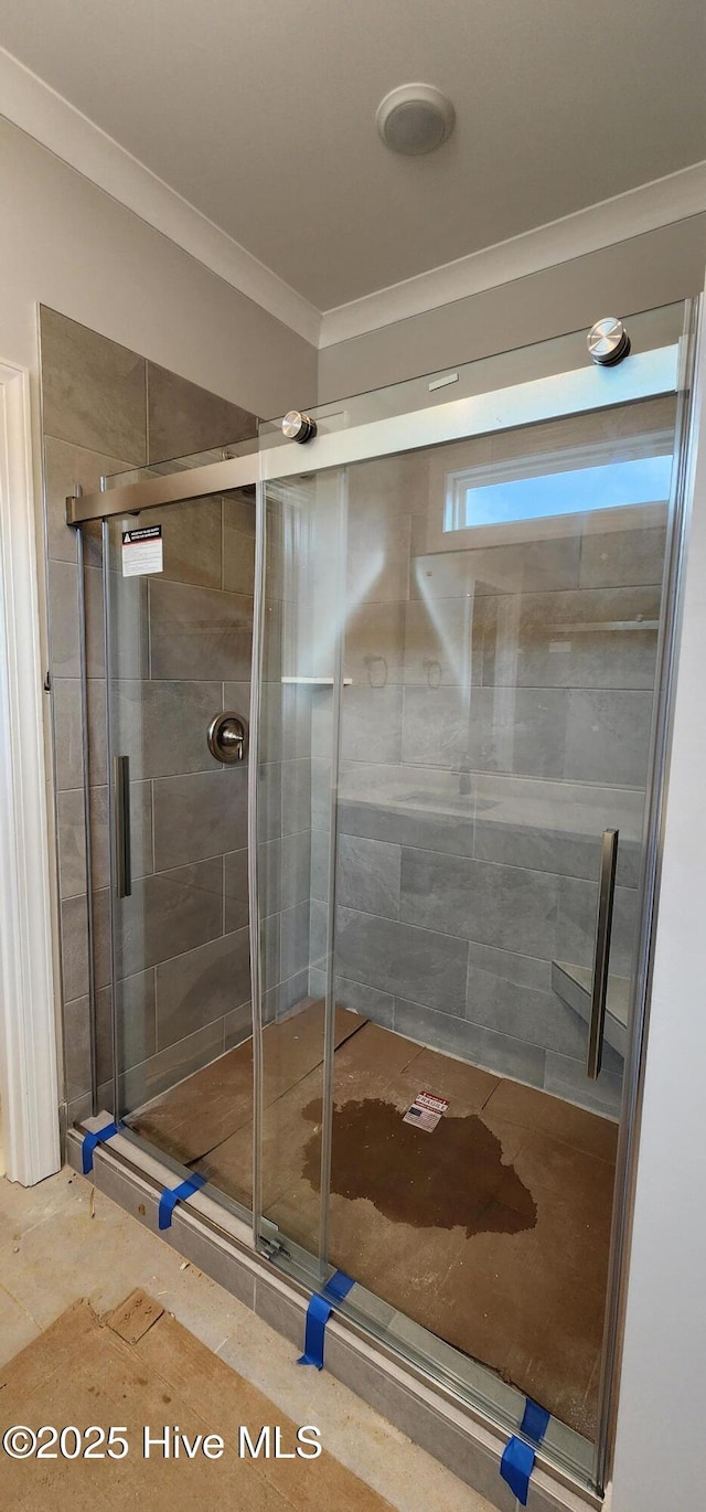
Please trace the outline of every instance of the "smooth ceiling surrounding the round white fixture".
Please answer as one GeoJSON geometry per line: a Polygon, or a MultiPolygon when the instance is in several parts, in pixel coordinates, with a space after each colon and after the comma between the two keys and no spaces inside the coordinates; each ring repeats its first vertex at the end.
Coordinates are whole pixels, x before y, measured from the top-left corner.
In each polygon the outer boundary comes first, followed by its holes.
{"type": "Polygon", "coordinates": [[[706,157],[703,0],[2,0],[0,47],[319,310],[706,157]],[[416,79],[457,130],[404,159],[416,79]]]}

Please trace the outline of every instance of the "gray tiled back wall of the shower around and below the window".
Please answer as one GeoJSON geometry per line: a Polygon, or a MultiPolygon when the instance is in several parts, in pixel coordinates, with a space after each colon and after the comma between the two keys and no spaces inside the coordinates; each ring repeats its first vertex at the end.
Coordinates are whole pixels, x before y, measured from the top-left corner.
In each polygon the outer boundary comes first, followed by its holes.
{"type": "MultiPolygon", "coordinates": [[[[636,428],[664,426],[662,408],[636,428]]],[[[597,425],[605,438],[627,420],[597,425]]],[[[556,443],[534,429],[534,449],[556,443]]],[[[655,510],[609,532],[574,520],[508,546],[443,538],[443,469],[487,463],[490,445],[502,457],[493,438],[446,464],[437,452],[349,470],[337,996],[615,1113],[621,1060],[606,1046],[587,1083],[587,1027],[550,968],[591,963],[600,835],[617,826],[611,969],[630,972],[665,531],[655,510]]],[[[317,694],[322,776],[330,742],[331,696],[317,694]]],[[[313,992],[325,839],[314,813],[313,992]]]]}

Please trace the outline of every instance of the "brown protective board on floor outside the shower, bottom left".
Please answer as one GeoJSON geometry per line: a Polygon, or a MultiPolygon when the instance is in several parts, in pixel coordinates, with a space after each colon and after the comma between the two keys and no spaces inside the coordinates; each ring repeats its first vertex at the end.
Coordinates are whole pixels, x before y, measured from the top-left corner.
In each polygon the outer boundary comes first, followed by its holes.
{"type": "MultiPolygon", "coordinates": [[[[386,1512],[390,1503],[325,1450],[317,1459],[239,1458],[239,1427],[257,1439],[268,1424],[281,1448],[296,1448],[296,1424],[145,1293],[133,1293],[98,1318],[77,1302],[0,1370],[3,1420],[38,1432],[119,1426],[129,1441],[121,1459],[26,1459],[3,1456],[3,1506],[15,1512],[386,1512]],[[160,1436],[178,1427],[224,1439],[221,1459],[144,1456],[144,1429],[160,1436]]],[[[274,1436],[272,1436],[274,1442],[274,1436]]],[[[68,1442],[73,1450],[73,1439],[68,1442]]]]}

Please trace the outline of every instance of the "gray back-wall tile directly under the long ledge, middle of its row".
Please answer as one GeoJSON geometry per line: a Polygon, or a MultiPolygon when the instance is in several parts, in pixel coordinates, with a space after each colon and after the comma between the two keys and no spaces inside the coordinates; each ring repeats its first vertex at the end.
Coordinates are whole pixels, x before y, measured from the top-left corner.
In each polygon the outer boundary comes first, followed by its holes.
{"type": "Polygon", "coordinates": [[[402,850],[401,916],[410,924],[550,960],[556,913],[550,872],[402,850]]]}

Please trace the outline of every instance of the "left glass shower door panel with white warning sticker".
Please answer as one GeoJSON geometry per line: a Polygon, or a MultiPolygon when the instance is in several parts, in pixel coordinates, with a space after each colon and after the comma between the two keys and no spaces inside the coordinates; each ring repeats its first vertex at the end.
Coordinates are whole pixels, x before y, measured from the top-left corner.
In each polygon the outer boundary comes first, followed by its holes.
{"type": "Polygon", "coordinates": [[[254,538],[254,490],[104,522],[110,1101],[246,1210],[254,538]]]}

